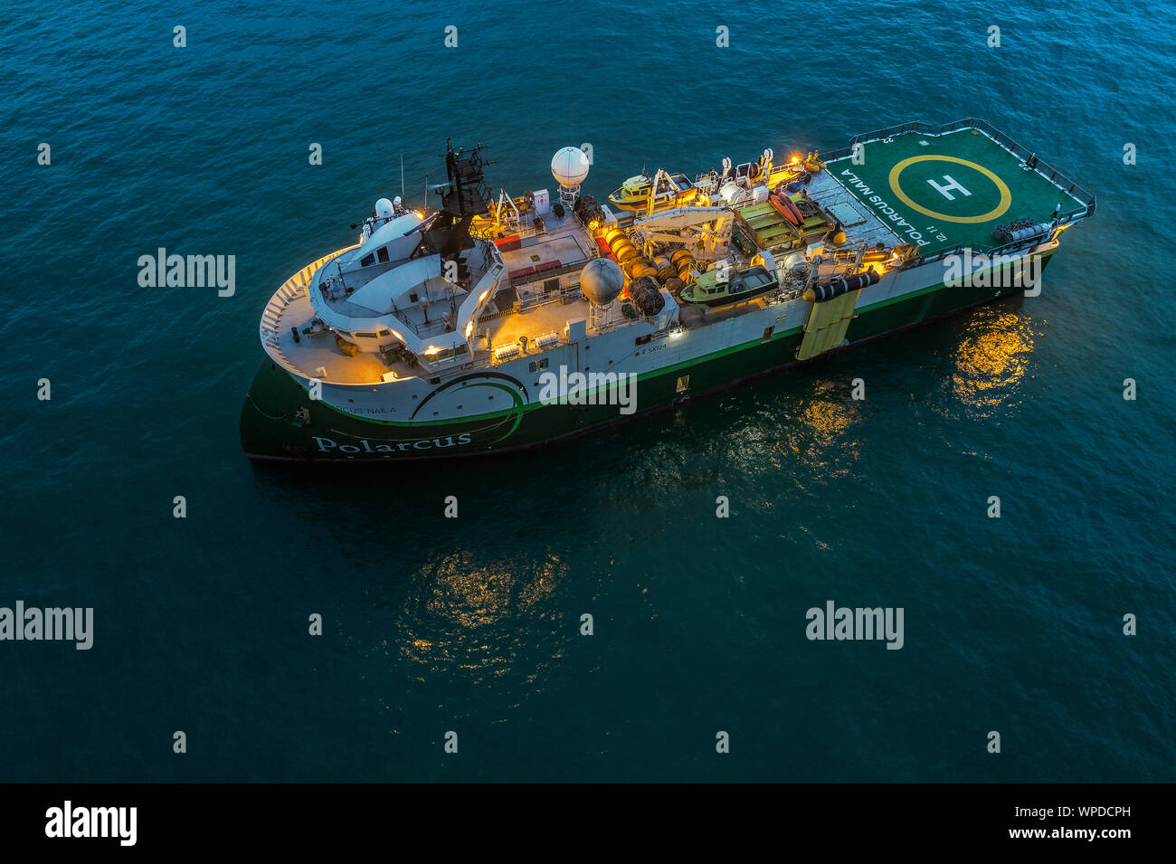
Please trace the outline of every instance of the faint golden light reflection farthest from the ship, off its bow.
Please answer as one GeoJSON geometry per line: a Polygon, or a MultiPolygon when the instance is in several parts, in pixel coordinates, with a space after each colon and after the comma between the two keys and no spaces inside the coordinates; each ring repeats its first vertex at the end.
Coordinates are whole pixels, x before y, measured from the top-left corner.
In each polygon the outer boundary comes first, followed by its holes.
{"type": "Polygon", "coordinates": [[[400,621],[400,655],[429,670],[466,670],[475,683],[512,671],[534,682],[539,670],[519,669],[517,661],[526,654],[528,664],[541,667],[561,656],[572,625],[552,595],[566,575],[567,565],[554,554],[489,562],[472,550],[441,555],[413,578],[400,621]],[[543,644],[550,650],[536,652],[543,644]]]}

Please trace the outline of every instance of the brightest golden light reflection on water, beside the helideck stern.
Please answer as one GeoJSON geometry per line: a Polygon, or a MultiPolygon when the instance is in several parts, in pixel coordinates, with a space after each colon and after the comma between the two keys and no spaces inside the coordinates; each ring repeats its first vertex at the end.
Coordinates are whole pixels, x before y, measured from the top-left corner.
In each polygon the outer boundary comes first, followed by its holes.
{"type": "Polygon", "coordinates": [[[969,334],[954,354],[956,370],[951,389],[965,406],[985,417],[1013,398],[1033,357],[1033,330],[1016,312],[991,310],[969,326],[969,334]]]}

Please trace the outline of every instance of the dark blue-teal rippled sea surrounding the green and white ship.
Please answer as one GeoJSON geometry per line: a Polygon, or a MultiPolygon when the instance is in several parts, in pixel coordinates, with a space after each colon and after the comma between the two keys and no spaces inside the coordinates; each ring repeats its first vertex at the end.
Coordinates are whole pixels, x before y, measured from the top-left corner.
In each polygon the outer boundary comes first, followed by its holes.
{"type": "Polygon", "coordinates": [[[0,642],[0,781],[1176,779],[1174,33],[1110,0],[6,5],[0,607],[94,631],[0,642]],[[416,206],[449,136],[516,194],[589,142],[602,195],[964,116],[1098,195],[1038,297],[524,456],[241,453],[266,300],[401,156],[416,206]],[[235,294],[140,287],[159,247],[234,255],[235,294]],[[903,648],[808,639],[827,601],[902,608],[903,648]]]}

